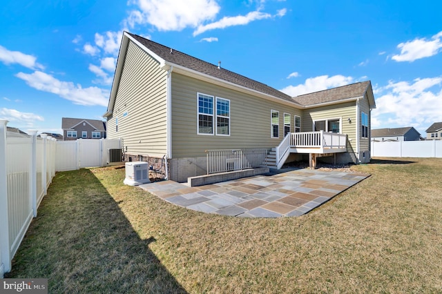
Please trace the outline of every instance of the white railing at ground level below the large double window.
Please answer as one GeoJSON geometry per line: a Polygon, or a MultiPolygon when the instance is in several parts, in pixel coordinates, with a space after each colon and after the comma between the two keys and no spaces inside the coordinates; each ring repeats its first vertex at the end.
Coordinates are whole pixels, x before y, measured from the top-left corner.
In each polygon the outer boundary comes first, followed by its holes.
{"type": "Polygon", "coordinates": [[[207,175],[262,166],[267,149],[206,150],[207,175]]]}

